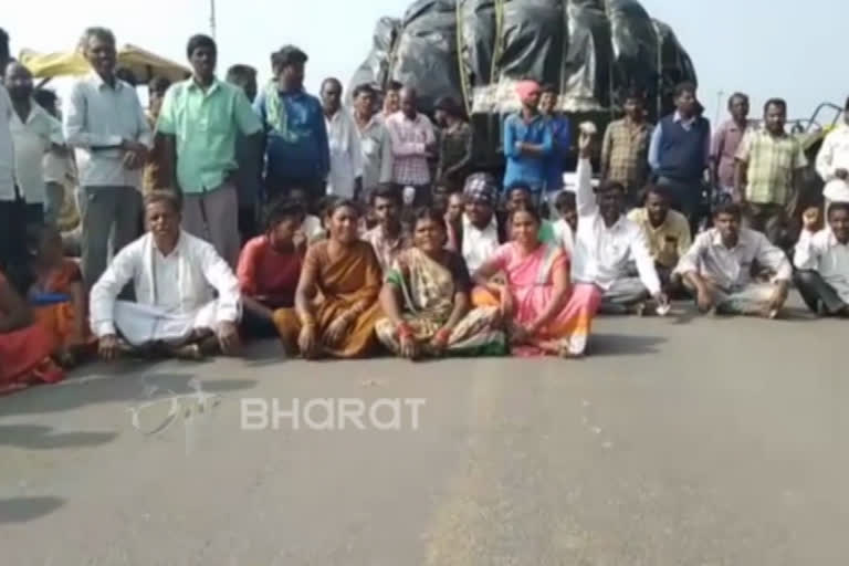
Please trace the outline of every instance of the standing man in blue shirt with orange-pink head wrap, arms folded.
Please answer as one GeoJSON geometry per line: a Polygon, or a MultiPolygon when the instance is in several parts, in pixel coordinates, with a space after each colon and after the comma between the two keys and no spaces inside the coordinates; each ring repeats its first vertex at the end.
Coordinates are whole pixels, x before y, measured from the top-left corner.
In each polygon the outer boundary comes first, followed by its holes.
{"type": "Polygon", "coordinates": [[[545,187],[546,160],[554,147],[552,128],[538,111],[539,85],[534,81],[521,81],[516,92],[522,111],[504,120],[504,156],[507,159],[504,186],[521,181],[531,188],[538,202],[545,187]]]}

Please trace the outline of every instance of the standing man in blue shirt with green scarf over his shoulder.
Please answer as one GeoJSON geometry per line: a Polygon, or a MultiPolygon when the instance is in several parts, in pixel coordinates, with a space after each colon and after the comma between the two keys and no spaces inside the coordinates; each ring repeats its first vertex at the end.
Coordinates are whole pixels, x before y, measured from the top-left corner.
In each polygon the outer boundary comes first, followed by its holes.
{"type": "Polygon", "coordinates": [[[270,198],[302,188],[310,208],[325,193],[331,153],[322,103],[304,91],[306,53],[286,45],[271,55],[274,78],[253,107],[265,126],[265,190],[270,198]]]}

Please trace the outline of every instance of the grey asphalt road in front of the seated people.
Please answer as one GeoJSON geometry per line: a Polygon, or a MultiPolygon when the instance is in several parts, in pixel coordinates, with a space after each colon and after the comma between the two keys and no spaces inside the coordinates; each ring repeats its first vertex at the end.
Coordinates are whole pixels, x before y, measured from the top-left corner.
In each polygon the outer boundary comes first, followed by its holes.
{"type": "Polygon", "coordinates": [[[0,562],[846,565],[847,331],[602,318],[579,361],[305,364],[268,343],[92,366],[0,398],[0,562]],[[249,398],[290,415],[244,430],[249,398]]]}

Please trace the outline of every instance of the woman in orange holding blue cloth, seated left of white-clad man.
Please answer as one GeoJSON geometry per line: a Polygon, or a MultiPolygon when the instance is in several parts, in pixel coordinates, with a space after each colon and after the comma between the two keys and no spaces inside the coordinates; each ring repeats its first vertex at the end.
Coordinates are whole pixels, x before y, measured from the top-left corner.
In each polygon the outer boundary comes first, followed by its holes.
{"type": "Polygon", "coordinates": [[[75,365],[96,339],[88,331],[88,307],[80,266],[62,252],[62,237],[53,227],[38,227],[28,233],[30,272],[29,300],[36,324],[50,334],[56,359],[75,365]]]}

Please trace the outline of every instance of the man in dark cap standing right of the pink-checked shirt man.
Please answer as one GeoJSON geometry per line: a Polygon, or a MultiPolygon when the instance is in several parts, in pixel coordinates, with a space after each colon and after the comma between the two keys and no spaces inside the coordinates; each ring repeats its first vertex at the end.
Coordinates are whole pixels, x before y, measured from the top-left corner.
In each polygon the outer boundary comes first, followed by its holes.
{"type": "Polygon", "coordinates": [[[460,104],[450,96],[438,99],[436,108],[437,124],[442,128],[437,185],[455,192],[462,190],[472,161],[472,128],[463,119],[460,104]]]}

